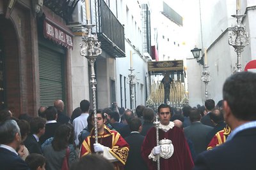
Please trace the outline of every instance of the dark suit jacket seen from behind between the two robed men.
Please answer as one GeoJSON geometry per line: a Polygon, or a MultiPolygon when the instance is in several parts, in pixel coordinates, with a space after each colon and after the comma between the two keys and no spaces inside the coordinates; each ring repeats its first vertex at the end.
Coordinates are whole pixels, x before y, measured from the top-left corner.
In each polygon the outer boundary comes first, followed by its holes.
{"type": "Polygon", "coordinates": [[[140,133],[134,132],[125,138],[125,141],[130,146],[129,155],[127,162],[125,163],[124,169],[127,170],[146,170],[147,164],[141,157],[141,145],[144,141],[145,136],[140,133]]]}

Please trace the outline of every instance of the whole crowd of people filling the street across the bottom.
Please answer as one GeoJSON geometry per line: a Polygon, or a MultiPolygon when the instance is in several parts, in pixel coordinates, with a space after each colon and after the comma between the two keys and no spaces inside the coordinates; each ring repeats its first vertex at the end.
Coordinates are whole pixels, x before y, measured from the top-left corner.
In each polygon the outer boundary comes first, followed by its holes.
{"type": "Polygon", "coordinates": [[[1,169],[256,169],[255,103],[256,73],[241,72],[225,81],[223,100],[193,108],[133,113],[113,103],[95,117],[83,100],[68,117],[56,100],[38,117],[2,110],[1,169]]]}

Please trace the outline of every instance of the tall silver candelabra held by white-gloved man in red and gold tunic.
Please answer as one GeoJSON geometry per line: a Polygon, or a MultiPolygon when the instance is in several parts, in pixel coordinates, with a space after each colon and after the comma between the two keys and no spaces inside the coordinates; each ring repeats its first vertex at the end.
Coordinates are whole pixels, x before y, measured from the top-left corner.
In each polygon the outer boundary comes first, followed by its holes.
{"type": "Polygon", "coordinates": [[[90,24],[90,20],[87,20],[87,24],[83,25],[87,29],[87,34],[83,34],[82,42],[80,43],[80,53],[83,57],[88,59],[91,65],[91,80],[92,85],[92,98],[93,98],[93,113],[94,113],[94,129],[95,129],[95,143],[98,143],[98,128],[97,128],[97,113],[96,113],[96,85],[97,81],[95,78],[94,63],[98,55],[102,52],[100,48],[100,42],[98,41],[97,35],[92,34],[92,28],[95,25],[90,24]]]}

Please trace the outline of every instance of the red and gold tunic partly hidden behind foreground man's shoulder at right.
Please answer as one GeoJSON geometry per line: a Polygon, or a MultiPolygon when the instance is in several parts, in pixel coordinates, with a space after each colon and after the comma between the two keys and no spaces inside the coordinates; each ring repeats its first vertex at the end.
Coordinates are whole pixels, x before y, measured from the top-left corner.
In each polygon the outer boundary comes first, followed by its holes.
{"type": "Polygon", "coordinates": [[[221,145],[222,143],[225,143],[226,139],[228,138],[228,135],[230,134],[231,129],[227,125],[224,127],[223,130],[218,131],[212,138],[211,142],[207,146],[207,150],[212,150],[212,148],[221,145]]]}

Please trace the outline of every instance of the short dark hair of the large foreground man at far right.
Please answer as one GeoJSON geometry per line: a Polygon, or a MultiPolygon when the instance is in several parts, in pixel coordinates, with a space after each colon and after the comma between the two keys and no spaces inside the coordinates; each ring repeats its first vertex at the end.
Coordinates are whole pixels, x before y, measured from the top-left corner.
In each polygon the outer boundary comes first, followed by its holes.
{"type": "Polygon", "coordinates": [[[223,100],[227,101],[234,117],[256,120],[256,73],[242,71],[228,77],[223,85],[223,100]]]}

